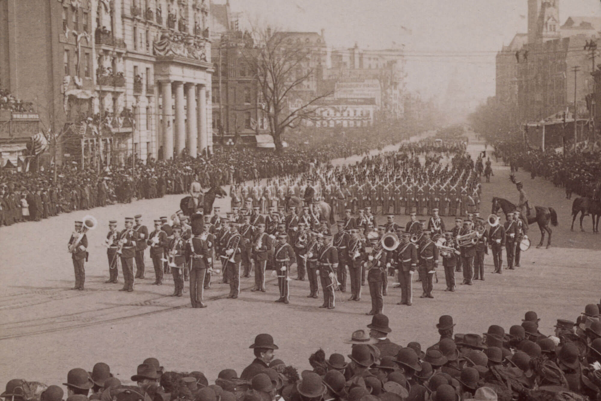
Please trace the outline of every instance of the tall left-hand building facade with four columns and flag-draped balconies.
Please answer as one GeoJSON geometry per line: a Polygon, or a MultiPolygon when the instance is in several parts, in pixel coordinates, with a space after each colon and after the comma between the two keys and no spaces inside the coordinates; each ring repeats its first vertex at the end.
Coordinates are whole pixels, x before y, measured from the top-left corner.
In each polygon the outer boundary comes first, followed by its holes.
{"type": "Polygon", "coordinates": [[[0,86],[35,99],[59,162],[196,156],[212,148],[208,15],[208,0],[3,0],[0,86]]]}

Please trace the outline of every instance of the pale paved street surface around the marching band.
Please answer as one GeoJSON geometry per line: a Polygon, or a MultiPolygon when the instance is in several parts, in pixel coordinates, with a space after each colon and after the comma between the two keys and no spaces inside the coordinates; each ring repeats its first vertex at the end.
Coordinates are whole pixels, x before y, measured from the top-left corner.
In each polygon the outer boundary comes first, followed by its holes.
{"type": "MultiPolygon", "coordinates": [[[[470,142],[474,158],[481,150],[483,144],[470,142]]],[[[493,196],[517,201],[515,186],[508,180],[508,167],[493,160],[493,171],[491,183],[483,183],[484,218],[490,213],[493,196]]],[[[548,334],[555,319],[573,319],[582,305],[599,300],[601,253],[597,248],[601,237],[590,232],[590,218],[585,219],[588,233],[570,233],[572,201],[565,198],[563,188],[539,178],[530,180],[529,174],[521,170],[517,179],[523,180],[532,204],[557,210],[560,224],[552,227],[552,248],[534,248],[540,233],[531,225],[533,246],[522,253],[522,267],[516,271],[492,275],[492,259],[487,257],[486,281],[477,281],[471,287],[458,286],[457,292],[447,293],[442,292],[444,273],[439,269],[435,299],[419,299],[421,284],[414,283],[412,307],[397,306],[400,291],[389,289],[384,312],[391,318],[393,340],[401,344],[413,340],[435,342],[435,323],[441,314],[454,317],[456,332],[481,333],[492,323],[508,329],[520,323],[527,310],[537,311],[542,317],[540,330],[548,334]]],[[[121,227],[125,216],[141,213],[145,224],[151,225],[156,216],[175,212],[180,198],[182,195],[170,195],[89,210],[99,227],[88,233],[90,262],[86,265],[84,292],[69,290],[73,286],[73,267],[66,243],[73,220],[85,213],[0,229],[4,249],[0,262],[2,379],[23,377],[62,383],[70,367],[90,370],[91,361],[105,361],[118,378],[128,381],[141,360],[154,356],[167,370],[175,366],[201,370],[212,382],[225,367],[234,367],[240,373],[253,358],[248,346],[259,332],[273,334],[280,348],[276,357],[287,363],[304,361],[304,366],[297,366],[299,369],[309,367],[309,355],[320,346],[326,354],[348,354],[349,347],[341,338],[370,322],[365,316],[370,309],[367,286],[362,287],[361,302],[346,301],[348,292],[337,293],[336,309],[332,311],[318,308],[321,299],[306,298],[307,281],[291,281],[291,303],[284,305],[273,302],[277,298],[273,279],[267,293],[257,293],[249,291],[254,278],[243,278],[238,299],[225,299],[228,286],[214,284],[205,293],[209,307],[192,309],[187,292],[183,298],[168,296],[172,292],[170,279],[162,287],[151,285],[154,277],[150,259],[147,278],[141,283],[136,281],[134,293],[117,292],[123,283],[121,273],[120,284],[104,284],[107,263],[102,243],[108,220],[117,219],[121,227]]],[[[222,209],[227,202],[218,201],[222,209]]],[[[397,221],[404,224],[407,218],[399,216],[397,221]]],[[[445,218],[445,224],[453,227],[453,219],[445,218]]]]}

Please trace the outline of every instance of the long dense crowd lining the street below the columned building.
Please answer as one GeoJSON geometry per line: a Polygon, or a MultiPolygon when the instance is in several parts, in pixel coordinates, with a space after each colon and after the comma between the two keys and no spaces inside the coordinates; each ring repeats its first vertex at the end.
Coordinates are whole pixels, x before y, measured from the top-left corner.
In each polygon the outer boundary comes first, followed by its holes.
{"type": "Polygon", "coordinates": [[[316,136],[311,142],[286,149],[281,155],[251,148],[218,149],[209,158],[138,161],[135,171],[124,166],[96,171],[71,165],[53,170],[14,173],[0,170],[0,226],[38,221],[133,198],[150,199],[183,194],[198,177],[203,188],[246,180],[301,174],[335,158],[364,155],[405,139],[398,132],[355,133],[340,141],[337,136],[316,136]],[[317,139],[319,138],[319,140],[317,139]]]}

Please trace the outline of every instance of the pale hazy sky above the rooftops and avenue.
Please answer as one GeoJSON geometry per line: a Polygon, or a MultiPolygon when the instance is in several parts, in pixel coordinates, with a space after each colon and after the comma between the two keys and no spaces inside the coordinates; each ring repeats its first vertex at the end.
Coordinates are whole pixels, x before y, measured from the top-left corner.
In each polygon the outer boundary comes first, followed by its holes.
{"type": "MultiPolygon", "coordinates": [[[[569,16],[601,17],[599,0],[559,1],[562,24],[569,16]]],[[[324,28],[332,46],[357,42],[379,49],[402,43],[410,90],[444,94],[456,75],[478,98],[495,93],[495,53],[516,32],[526,32],[528,10],[527,0],[230,0],[230,5],[243,12],[243,26],[324,28]]]]}

